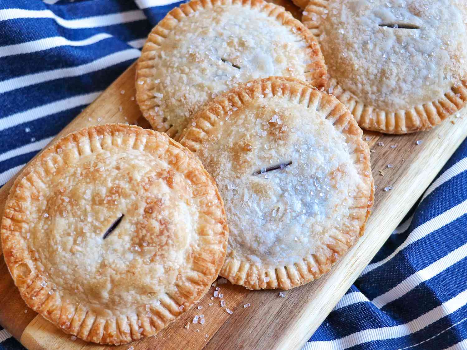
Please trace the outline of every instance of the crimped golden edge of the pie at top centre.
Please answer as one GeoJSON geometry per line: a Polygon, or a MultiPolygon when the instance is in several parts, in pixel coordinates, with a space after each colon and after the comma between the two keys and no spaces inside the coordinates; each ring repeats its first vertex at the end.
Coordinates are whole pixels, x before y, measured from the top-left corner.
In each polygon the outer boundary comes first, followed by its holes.
{"type": "MultiPolygon", "coordinates": [[[[157,106],[157,99],[155,96],[150,96],[154,88],[154,83],[148,81],[145,70],[152,69],[154,66],[150,66],[150,63],[154,61],[152,53],[158,50],[160,43],[167,37],[168,33],[177,26],[185,17],[196,14],[199,8],[210,8],[222,5],[242,5],[249,6],[251,8],[259,9],[261,12],[267,13],[269,17],[275,18],[281,24],[291,28],[297,35],[302,35],[304,40],[309,44],[309,48],[313,53],[313,62],[307,63],[307,69],[312,72],[304,73],[307,80],[316,86],[318,89],[324,88],[327,83],[327,69],[324,62],[324,57],[319,48],[318,41],[311,35],[309,30],[298,21],[296,18],[286,11],[284,7],[275,5],[264,0],[191,0],[188,3],[181,4],[179,7],[172,9],[162,21],[160,21],[156,27],[154,27],[148,35],[148,39],[145,42],[141,57],[138,59],[136,64],[135,73],[135,85],[136,85],[136,101],[141,109],[144,118],[148,119],[151,126],[161,132],[166,132],[170,136],[174,136],[177,132],[182,130],[171,130],[159,129],[156,127],[162,119],[154,117],[149,111],[157,106]],[[144,67],[142,67],[144,66],[144,67]],[[143,81],[143,84],[138,84],[138,81],[143,81]]],[[[179,140],[180,138],[176,138],[179,140]]]]}

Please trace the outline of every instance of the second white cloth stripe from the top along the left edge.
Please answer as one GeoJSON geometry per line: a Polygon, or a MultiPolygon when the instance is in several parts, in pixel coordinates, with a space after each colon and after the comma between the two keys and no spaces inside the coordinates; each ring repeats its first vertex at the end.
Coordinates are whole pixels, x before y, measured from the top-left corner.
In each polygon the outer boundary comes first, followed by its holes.
{"type": "Polygon", "coordinates": [[[30,54],[32,52],[48,50],[56,48],[58,46],[85,46],[91,45],[101,40],[111,38],[112,35],[107,33],[100,33],[92,35],[89,38],[77,41],[71,41],[63,36],[51,36],[50,38],[44,38],[39,40],[33,40],[30,42],[21,42],[21,44],[6,45],[0,47],[0,57],[30,54]]]}

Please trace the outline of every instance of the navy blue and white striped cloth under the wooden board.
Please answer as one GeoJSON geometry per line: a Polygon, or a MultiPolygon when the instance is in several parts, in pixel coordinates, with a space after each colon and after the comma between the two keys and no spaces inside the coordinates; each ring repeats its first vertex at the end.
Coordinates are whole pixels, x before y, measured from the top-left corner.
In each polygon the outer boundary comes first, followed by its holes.
{"type": "MultiPolygon", "coordinates": [[[[0,0],[0,184],[140,55],[180,3],[0,0]]],[[[305,349],[467,349],[466,257],[467,141],[305,349]]],[[[5,329],[0,341],[22,348],[5,329]]]]}

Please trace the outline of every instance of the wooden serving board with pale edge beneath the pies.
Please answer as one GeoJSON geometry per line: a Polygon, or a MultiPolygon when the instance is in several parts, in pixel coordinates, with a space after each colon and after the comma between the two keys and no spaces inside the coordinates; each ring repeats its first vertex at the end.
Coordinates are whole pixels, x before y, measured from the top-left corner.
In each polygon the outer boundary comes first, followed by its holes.
{"type": "MultiPolygon", "coordinates": [[[[281,0],[279,0],[281,1],[281,0]]],[[[289,7],[297,14],[297,9],[289,7]]],[[[89,105],[57,137],[82,127],[125,123],[149,127],[132,99],[135,95],[134,64],[89,105]],[[125,91],[125,93],[121,93],[125,91]],[[121,108],[120,108],[121,107],[121,108]]],[[[71,340],[50,322],[29,309],[14,286],[0,256],[0,324],[31,350],[43,349],[299,349],[331,312],[363,268],[422,195],[434,176],[467,136],[467,110],[444,121],[432,131],[403,136],[365,133],[372,150],[375,204],[367,229],[358,243],[331,272],[315,282],[285,292],[248,291],[230,283],[219,285],[229,315],[220,299],[211,296],[214,287],[198,305],[158,335],[122,346],[102,346],[71,340]],[[420,140],[417,144],[417,140],[420,140]],[[396,147],[391,147],[396,145],[396,147]],[[392,164],[392,168],[387,165],[392,164]],[[380,174],[379,170],[382,171],[380,174]],[[392,186],[385,191],[384,188],[392,186]],[[209,303],[213,303],[209,306],[209,303]],[[243,305],[250,303],[249,308],[243,305]],[[190,324],[194,315],[205,315],[205,324],[190,324]]],[[[54,141],[52,141],[54,142],[54,141]]],[[[12,182],[0,189],[3,212],[12,182]]],[[[0,252],[1,254],[1,252],[0,252]]]]}

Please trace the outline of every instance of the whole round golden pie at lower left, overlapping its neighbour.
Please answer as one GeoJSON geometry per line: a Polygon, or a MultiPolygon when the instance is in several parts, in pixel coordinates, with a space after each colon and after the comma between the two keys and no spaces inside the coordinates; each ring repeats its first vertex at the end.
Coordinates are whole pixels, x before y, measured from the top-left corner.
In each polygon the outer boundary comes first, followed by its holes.
{"type": "Polygon", "coordinates": [[[46,149],[14,182],[1,221],[29,307],[64,332],[121,344],[163,329],[224,262],[215,183],[167,135],[92,126],[46,149]]]}

